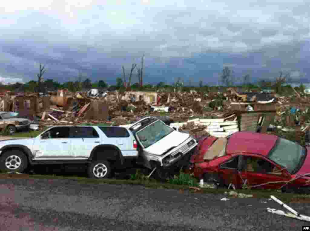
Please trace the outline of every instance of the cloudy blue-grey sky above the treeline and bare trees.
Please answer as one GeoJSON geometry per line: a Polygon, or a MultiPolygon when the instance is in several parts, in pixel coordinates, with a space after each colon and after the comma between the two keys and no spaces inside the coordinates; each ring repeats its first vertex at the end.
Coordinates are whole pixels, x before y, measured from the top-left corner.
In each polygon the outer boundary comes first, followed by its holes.
{"type": "Polygon", "coordinates": [[[43,63],[44,79],[114,84],[142,54],[145,83],[218,83],[224,66],[236,81],[310,76],[309,0],[10,0],[0,13],[2,83],[43,63]]]}

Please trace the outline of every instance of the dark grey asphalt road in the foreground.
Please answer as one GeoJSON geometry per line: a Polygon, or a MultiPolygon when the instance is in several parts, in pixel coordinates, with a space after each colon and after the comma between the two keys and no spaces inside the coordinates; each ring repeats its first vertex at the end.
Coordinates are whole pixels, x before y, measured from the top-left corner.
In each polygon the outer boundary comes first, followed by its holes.
{"type": "MultiPolygon", "coordinates": [[[[267,199],[74,180],[0,180],[0,230],[301,230],[267,199]]],[[[292,207],[309,214],[309,205],[292,207]]]]}

